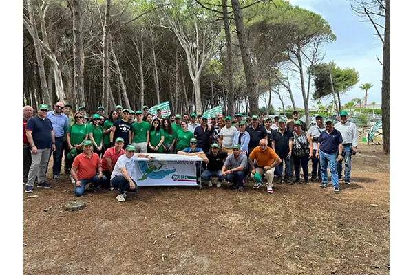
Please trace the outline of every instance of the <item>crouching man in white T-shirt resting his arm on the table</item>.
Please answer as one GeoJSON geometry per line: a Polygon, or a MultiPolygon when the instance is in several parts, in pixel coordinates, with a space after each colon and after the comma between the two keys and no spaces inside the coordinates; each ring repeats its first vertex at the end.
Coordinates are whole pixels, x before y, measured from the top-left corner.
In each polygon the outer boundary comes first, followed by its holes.
{"type": "Polygon", "coordinates": [[[110,176],[110,182],[112,186],[119,188],[119,194],[116,196],[118,201],[125,201],[125,191],[136,192],[138,190],[138,185],[132,179],[135,173],[135,161],[138,157],[155,159],[155,157],[147,154],[135,154],[135,146],[127,145],[125,154],[121,155],[115,164],[112,175],[110,176]]]}

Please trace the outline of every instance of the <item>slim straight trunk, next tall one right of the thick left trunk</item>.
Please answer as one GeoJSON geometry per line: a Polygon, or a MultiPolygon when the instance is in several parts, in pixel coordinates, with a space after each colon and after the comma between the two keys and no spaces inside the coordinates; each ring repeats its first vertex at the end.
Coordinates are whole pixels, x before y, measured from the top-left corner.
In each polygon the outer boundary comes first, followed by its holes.
{"type": "Polygon", "coordinates": [[[105,23],[103,25],[103,91],[102,104],[109,111],[109,20],[110,20],[110,6],[111,0],[106,0],[105,6],[105,23]]]}

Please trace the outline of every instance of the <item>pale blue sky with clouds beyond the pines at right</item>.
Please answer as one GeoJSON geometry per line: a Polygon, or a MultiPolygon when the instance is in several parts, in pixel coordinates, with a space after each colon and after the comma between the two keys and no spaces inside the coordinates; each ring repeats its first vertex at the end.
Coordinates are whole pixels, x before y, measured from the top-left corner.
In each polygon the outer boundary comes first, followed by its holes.
{"type": "MultiPolygon", "coordinates": [[[[375,30],[369,22],[358,17],[351,10],[348,0],[289,0],[291,5],[321,14],[330,23],[332,32],[337,40],[324,47],[326,56],[324,62],[334,61],[341,68],[354,68],[359,72],[359,83],[341,96],[341,103],[350,102],[353,98],[363,98],[364,91],[359,89],[362,83],[372,83],[373,87],[368,91],[368,104],[381,103],[381,64],[377,57],[382,59],[382,44],[375,30]]],[[[297,107],[304,107],[301,89],[291,85],[297,107]]],[[[287,91],[285,90],[285,94],[287,91]]],[[[286,97],[286,106],[291,105],[289,97],[286,97]]],[[[330,104],[332,98],[322,100],[324,105],[330,104]]],[[[275,109],[281,107],[279,99],[272,100],[275,109]]],[[[309,106],[315,105],[310,101],[309,106]]],[[[264,106],[264,100],[260,100],[260,107],[264,106]]]]}

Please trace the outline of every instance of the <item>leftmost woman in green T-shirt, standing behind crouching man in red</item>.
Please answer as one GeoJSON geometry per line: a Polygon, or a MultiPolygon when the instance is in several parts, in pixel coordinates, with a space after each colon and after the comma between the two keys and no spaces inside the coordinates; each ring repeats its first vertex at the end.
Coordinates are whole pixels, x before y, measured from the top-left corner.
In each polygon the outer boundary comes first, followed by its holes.
{"type": "MultiPolygon", "coordinates": [[[[89,136],[86,132],[86,124],[83,122],[84,115],[80,111],[76,111],[74,113],[74,122],[69,127],[67,127],[66,131],[66,140],[67,145],[69,146],[70,152],[67,153],[67,159],[69,159],[69,166],[72,168],[72,164],[74,161],[74,155],[78,155],[82,153],[82,144],[87,137],[89,136]],[[73,149],[76,149],[76,152],[71,152],[73,149]]],[[[70,177],[72,184],[75,184],[73,177],[70,177]]]]}

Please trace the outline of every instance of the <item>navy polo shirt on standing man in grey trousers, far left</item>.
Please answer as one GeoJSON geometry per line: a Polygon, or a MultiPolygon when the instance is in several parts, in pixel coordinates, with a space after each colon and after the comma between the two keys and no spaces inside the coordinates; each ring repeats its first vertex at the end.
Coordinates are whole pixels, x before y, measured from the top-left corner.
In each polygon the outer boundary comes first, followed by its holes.
{"type": "Polygon", "coordinates": [[[52,134],[50,132],[53,130],[53,126],[50,119],[42,120],[39,115],[36,115],[28,120],[25,130],[32,131],[33,142],[38,149],[52,148],[52,134]]]}

